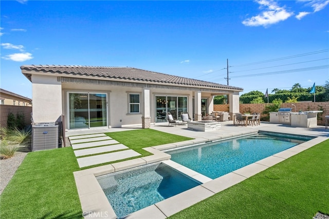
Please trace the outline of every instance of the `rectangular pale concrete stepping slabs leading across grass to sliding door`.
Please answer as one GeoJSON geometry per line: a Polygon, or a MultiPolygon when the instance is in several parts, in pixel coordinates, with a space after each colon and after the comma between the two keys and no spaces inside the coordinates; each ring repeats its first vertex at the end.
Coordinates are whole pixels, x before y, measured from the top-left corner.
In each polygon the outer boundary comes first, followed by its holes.
{"type": "Polygon", "coordinates": [[[70,136],[68,139],[70,140],[76,157],[92,155],[88,157],[77,158],[80,168],[141,155],[134,150],[126,150],[129,148],[124,144],[120,144],[118,141],[112,139],[111,137],[108,137],[104,133],[70,136]]]}

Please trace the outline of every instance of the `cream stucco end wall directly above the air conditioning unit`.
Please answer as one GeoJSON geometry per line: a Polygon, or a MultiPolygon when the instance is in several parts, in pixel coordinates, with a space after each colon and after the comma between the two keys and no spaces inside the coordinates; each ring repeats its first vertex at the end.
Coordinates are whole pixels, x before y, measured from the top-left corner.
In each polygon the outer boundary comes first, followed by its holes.
{"type": "Polygon", "coordinates": [[[55,122],[62,115],[62,85],[57,77],[32,75],[33,121],[55,122]]]}

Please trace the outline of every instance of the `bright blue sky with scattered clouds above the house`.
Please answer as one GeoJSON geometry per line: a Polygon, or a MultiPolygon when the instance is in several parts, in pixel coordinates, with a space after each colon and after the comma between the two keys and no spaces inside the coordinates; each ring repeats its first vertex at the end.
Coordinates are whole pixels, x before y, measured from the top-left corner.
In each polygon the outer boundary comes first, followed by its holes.
{"type": "Polygon", "coordinates": [[[329,80],[325,1],[1,1],[1,87],[21,65],[129,66],[244,88],[329,80]]]}

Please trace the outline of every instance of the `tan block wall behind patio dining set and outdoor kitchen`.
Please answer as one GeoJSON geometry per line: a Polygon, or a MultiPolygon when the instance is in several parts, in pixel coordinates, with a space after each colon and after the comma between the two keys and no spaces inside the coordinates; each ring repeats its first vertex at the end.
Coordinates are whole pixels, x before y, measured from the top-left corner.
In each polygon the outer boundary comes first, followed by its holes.
{"type": "MultiPolygon", "coordinates": [[[[269,103],[270,104],[270,103],[269,103]]],[[[302,111],[318,111],[321,110],[323,113],[318,113],[318,125],[324,125],[324,116],[329,115],[329,102],[297,102],[293,103],[296,105],[296,109],[302,111]]],[[[244,103],[240,104],[240,113],[262,113],[265,109],[267,103],[244,103]]],[[[295,112],[295,106],[291,103],[282,103],[283,108],[293,108],[292,111],[295,112]]],[[[228,104],[214,104],[214,111],[225,111],[229,112],[228,104]]],[[[265,118],[269,118],[269,115],[261,114],[261,119],[266,121],[265,118]],[[262,119],[263,118],[263,119],[262,119]]]]}

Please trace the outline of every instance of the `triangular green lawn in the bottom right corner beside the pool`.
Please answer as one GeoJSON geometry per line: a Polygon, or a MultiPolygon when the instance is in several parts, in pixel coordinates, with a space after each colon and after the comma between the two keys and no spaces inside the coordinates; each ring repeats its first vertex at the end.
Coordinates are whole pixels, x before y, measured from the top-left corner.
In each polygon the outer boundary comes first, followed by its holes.
{"type": "Polygon", "coordinates": [[[313,218],[329,214],[329,140],[170,218],[313,218]]]}

